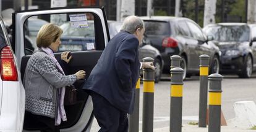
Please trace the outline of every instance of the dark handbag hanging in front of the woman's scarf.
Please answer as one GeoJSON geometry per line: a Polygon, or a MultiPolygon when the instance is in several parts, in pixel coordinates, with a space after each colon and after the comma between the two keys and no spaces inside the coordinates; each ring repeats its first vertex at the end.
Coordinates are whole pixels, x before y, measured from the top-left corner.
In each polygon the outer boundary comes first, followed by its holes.
{"type": "Polygon", "coordinates": [[[77,89],[74,85],[66,86],[64,106],[69,106],[77,103],[77,89]]]}

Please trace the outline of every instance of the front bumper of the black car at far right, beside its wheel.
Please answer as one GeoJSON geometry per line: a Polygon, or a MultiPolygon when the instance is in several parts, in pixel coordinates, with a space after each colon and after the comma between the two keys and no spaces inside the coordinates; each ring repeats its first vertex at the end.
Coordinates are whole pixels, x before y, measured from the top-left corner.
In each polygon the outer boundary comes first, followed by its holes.
{"type": "Polygon", "coordinates": [[[242,70],[244,66],[244,57],[221,57],[221,71],[222,73],[237,73],[242,70]]]}

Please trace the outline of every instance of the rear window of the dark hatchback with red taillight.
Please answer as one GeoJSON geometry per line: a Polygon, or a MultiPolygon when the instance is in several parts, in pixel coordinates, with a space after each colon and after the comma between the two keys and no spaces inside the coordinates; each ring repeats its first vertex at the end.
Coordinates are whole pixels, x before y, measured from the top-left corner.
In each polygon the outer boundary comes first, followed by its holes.
{"type": "Polygon", "coordinates": [[[146,21],[145,23],[145,34],[147,35],[160,35],[166,36],[170,34],[170,26],[166,21],[146,21]]]}

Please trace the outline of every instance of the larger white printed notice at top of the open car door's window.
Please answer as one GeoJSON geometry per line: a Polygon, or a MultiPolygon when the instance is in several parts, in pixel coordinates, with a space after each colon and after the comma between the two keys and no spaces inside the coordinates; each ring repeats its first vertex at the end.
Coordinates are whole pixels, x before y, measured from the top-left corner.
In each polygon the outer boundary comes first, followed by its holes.
{"type": "Polygon", "coordinates": [[[88,28],[87,17],[85,14],[69,15],[72,28],[88,28]]]}

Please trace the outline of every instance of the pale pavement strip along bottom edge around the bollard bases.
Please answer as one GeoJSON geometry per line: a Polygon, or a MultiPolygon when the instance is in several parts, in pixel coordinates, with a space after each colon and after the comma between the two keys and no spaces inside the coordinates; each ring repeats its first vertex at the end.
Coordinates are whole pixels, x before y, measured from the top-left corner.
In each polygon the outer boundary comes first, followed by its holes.
{"type": "MultiPolygon", "coordinates": [[[[154,132],[169,132],[169,127],[156,128],[154,129],[154,132]]],[[[208,132],[208,128],[198,128],[197,125],[182,125],[182,132],[208,132]]],[[[232,126],[221,126],[221,132],[256,132],[256,130],[249,130],[248,128],[236,128],[232,126]]]]}

